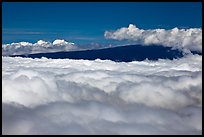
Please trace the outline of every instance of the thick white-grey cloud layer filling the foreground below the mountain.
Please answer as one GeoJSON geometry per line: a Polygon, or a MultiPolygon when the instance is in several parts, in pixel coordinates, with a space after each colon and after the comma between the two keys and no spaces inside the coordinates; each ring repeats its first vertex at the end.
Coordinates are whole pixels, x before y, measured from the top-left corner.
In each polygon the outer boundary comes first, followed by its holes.
{"type": "Polygon", "coordinates": [[[3,134],[202,134],[200,55],[2,65],[3,134]]]}

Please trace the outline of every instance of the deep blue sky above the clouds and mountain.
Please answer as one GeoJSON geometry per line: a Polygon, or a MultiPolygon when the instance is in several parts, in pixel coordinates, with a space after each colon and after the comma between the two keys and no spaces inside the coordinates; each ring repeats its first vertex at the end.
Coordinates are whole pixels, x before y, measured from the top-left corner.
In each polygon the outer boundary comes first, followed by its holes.
{"type": "Polygon", "coordinates": [[[106,43],[106,30],[200,28],[202,3],[179,2],[3,2],[3,43],[65,39],[106,43]]]}

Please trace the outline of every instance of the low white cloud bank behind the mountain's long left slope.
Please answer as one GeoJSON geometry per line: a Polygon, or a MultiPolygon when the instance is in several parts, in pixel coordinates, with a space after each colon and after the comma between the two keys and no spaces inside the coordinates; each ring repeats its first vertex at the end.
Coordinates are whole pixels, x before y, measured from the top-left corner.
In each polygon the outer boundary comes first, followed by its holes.
{"type": "Polygon", "coordinates": [[[37,41],[37,43],[19,42],[2,45],[2,55],[21,55],[43,52],[57,52],[57,51],[70,51],[76,50],[78,47],[72,42],[56,39],[51,42],[43,40],[37,41]]]}

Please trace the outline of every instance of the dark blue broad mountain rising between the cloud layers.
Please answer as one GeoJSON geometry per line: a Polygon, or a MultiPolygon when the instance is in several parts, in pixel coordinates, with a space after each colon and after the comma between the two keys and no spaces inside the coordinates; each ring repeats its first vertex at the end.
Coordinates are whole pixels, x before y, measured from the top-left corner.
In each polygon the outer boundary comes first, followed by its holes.
{"type": "Polygon", "coordinates": [[[179,50],[173,50],[170,47],[159,45],[127,45],[120,47],[112,47],[105,49],[83,50],[83,51],[69,51],[69,52],[54,52],[54,53],[36,53],[28,55],[13,55],[20,57],[30,58],[53,58],[53,59],[108,59],[113,61],[142,61],[145,59],[158,60],[158,59],[173,59],[183,57],[183,53],[179,50]]]}

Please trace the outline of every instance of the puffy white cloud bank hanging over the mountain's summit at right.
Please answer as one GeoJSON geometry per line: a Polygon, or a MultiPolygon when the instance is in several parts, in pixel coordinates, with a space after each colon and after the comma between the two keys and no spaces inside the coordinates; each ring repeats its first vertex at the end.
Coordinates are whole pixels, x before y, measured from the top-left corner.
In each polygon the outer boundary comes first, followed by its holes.
{"type": "Polygon", "coordinates": [[[142,45],[163,45],[180,49],[184,52],[202,52],[202,29],[149,29],[144,30],[130,24],[116,31],[105,31],[105,38],[130,40],[142,45]]]}

